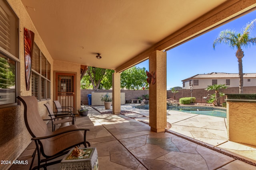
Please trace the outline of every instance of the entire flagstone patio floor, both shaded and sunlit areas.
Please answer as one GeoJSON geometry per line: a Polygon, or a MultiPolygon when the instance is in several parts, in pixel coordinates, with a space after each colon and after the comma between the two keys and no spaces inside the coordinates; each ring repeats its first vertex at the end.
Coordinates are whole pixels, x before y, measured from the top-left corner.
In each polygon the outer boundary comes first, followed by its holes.
{"type": "MultiPolygon", "coordinates": [[[[119,115],[101,114],[112,111],[104,106],[88,107],[88,116],[76,117],[76,125],[90,129],[86,139],[98,151],[99,170],[256,170],[256,147],[228,141],[226,119],[167,111],[172,127],[154,133],[148,110],[134,105],[122,105],[119,115]]],[[[28,165],[10,170],[27,170],[34,148],[31,143],[19,158],[28,165]]]]}

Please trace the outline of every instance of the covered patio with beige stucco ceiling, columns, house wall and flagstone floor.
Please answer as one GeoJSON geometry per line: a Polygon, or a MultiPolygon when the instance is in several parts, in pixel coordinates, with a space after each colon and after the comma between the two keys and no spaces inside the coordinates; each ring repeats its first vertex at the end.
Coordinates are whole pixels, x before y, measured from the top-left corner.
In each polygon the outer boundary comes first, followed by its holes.
{"type": "MultiPolygon", "coordinates": [[[[106,169],[190,169],[192,164],[196,169],[221,169],[234,164],[254,168],[164,132],[166,51],[255,10],[256,0],[0,2],[4,11],[1,15],[12,18],[11,24],[9,21],[2,24],[11,28],[11,33],[4,35],[10,39],[10,47],[5,44],[0,47],[1,59],[10,64],[5,69],[12,73],[12,83],[2,86],[6,96],[11,90],[12,98],[0,103],[1,160],[29,160],[34,151],[24,122],[24,106],[16,97],[35,96],[42,119],[48,118],[44,104],[55,109],[53,100],[69,98],[68,104],[78,111],[80,78],[87,66],[92,66],[115,71],[112,75],[114,114],[101,115],[92,110],[89,117],[77,117],[76,124],[90,129],[88,141],[97,147],[100,164],[111,167],[106,169]],[[32,59],[25,50],[24,42],[28,39],[24,30],[34,33],[34,40],[30,39],[34,47],[30,51],[32,59]],[[145,124],[120,115],[120,73],[147,59],[152,79],[149,119],[145,124]]],[[[0,169],[11,166],[0,164],[0,169]]],[[[59,164],[52,167],[59,168],[59,164]]],[[[27,169],[27,165],[12,166],[18,168],[27,169]]]]}

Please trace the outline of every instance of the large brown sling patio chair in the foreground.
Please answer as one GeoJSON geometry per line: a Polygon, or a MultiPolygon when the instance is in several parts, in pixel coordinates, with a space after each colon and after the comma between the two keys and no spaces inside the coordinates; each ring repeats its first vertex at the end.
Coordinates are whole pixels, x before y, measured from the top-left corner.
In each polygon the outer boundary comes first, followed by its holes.
{"type": "Polygon", "coordinates": [[[54,132],[48,130],[46,123],[40,117],[38,111],[38,102],[34,96],[18,96],[24,105],[24,121],[28,132],[32,136],[32,141],[36,143],[36,149],[33,153],[30,169],[32,168],[36,152],[38,155],[38,165],[33,168],[46,169],[47,166],[60,163],[60,160],[53,160],[69,152],[72,147],[83,144],[84,147],[90,147],[86,141],[86,132],[89,129],[78,128],[76,125],[59,128],[54,132]],[[84,133],[82,133],[84,131],[84,133]],[[86,145],[87,144],[87,145],[86,145]],[[41,155],[44,157],[41,159],[41,155]]]}

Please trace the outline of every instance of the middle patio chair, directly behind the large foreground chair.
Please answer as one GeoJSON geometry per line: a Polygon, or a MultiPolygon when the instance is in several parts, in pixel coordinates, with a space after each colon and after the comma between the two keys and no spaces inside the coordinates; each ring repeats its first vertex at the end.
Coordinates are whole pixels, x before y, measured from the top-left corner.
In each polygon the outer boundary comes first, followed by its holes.
{"type": "MultiPolygon", "coordinates": [[[[54,114],[54,113],[57,113],[57,112],[52,111],[52,107],[50,106],[50,104],[46,103],[46,104],[44,104],[44,106],[47,108],[49,116],[51,117],[51,119],[44,119],[44,120],[52,121],[52,131],[55,131],[55,126],[57,124],[64,125],[64,123],[69,123],[69,122],[72,122],[72,125],[75,124],[74,123],[74,117],[75,116],[70,115],[69,111],[66,111],[66,114],[58,114],[57,115],[57,114],[54,114]]],[[[65,112],[62,112],[62,113],[65,113],[65,112]]]]}

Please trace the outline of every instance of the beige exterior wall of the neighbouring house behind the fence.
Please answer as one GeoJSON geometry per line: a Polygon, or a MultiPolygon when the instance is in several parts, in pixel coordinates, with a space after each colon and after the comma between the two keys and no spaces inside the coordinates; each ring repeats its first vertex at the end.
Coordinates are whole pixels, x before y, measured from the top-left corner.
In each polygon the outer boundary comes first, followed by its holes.
{"type": "MultiPolygon", "coordinates": [[[[238,78],[195,78],[189,80],[192,80],[193,89],[202,89],[207,88],[208,85],[212,85],[212,80],[217,80],[217,84],[226,84],[227,79],[230,80],[230,85],[228,87],[239,87],[238,78]],[[198,86],[194,85],[194,80],[198,80],[198,86]]],[[[185,87],[183,87],[183,89],[190,89],[189,80],[186,80],[185,87]]],[[[244,78],[244,87],[255,86],[255,84],[256,78],[244,78]],[[248,79],[250,79],[249,82],[248,79]]]]}

